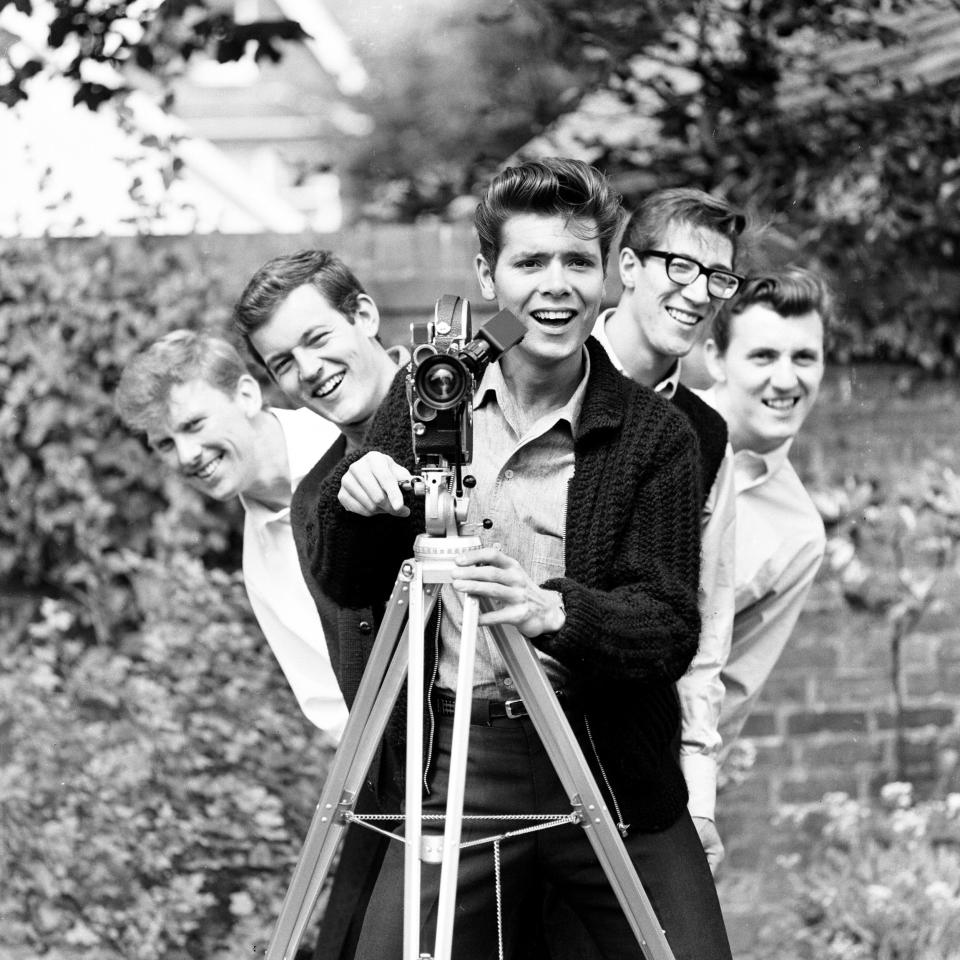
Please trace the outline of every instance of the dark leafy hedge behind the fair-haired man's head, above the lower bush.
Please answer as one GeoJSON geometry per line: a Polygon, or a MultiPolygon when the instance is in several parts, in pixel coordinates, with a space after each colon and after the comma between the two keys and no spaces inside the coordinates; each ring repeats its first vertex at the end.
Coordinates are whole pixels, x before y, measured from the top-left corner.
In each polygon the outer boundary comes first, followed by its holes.
{"type": "Polygon", "coordinates": [[[223,327],[226,289],[162,240],[0,245],[0,583],[72,597],[100,642],[136,624],[130,557],[237,565],[236,505],[160,475],[112,405],[146,340],[223,327]]]}

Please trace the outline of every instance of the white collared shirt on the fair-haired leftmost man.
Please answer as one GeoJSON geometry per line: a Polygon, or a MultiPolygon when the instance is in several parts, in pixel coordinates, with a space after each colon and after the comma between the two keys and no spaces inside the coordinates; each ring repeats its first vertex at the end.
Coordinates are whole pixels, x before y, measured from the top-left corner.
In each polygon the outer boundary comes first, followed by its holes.
{"type": "MultiPolygon", "coordinates": [[[[290,494],[340,431],[310,410],[269,408],[283,429],[290,494]]],[[[243,580],[260,629],[307,719],[339,740],[347,720],[343,695],[316,605],[304,583],[290,527],[290,505],[281,510],[241,495],[243,580]]]]}

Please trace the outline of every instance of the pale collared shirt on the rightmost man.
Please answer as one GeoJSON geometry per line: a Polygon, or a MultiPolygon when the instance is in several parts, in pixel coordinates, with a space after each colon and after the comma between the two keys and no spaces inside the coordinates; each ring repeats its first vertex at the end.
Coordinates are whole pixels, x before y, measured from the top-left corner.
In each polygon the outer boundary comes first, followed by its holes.
{"type": "MultiPolygon", "coordinates": [[[[723,413],[716,387],[702,396],[723,413]]],[[[823,520],[787,459],[790,445],[767,454],[738,450],[734,457],[737,599],[720,715],[727,747],[793,632],[826,548],[823,520]]]]}

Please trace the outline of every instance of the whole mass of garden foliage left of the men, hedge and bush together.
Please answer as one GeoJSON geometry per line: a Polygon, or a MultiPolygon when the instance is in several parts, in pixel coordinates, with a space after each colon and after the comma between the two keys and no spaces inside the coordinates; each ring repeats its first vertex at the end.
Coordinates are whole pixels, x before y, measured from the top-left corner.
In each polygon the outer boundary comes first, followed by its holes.
{"type": "Polygon", "coordinates": [[[325,773],[243,593],[239,510],[113,410],[135,350],[226,322],[235,278],[179,249],[0,252],[0,954],[250,955],[325,773]]]}

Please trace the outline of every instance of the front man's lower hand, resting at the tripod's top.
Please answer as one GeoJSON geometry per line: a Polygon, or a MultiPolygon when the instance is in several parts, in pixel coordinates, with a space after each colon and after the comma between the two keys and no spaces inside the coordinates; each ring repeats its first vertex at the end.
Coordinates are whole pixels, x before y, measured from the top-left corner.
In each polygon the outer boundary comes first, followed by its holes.
{"type": "Polygon", "coordinates": [[[480,625],[513,624],[525,637],[556,633],[566,615],[560,594],[537,586],[513,559],[495,547],[470,550],[457,558],[453,587],[474,597],[488,597],[496,609],[480,614],[480,625]]]}

